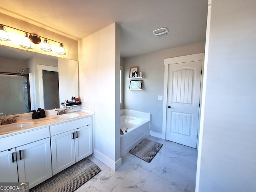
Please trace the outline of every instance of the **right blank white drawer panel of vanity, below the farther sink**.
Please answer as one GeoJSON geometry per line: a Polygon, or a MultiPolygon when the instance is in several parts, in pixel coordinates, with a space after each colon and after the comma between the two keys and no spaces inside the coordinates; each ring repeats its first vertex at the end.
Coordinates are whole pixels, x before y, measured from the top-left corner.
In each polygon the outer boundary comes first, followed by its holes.
{"type": "Polygon", "coordinates": [[[78,120],[64,122],[61,124],[50,126],[50,135],[57,135],[66,131],[74,130],[82,126],[92,124],[92,117],[86,117],[78,120]]]}

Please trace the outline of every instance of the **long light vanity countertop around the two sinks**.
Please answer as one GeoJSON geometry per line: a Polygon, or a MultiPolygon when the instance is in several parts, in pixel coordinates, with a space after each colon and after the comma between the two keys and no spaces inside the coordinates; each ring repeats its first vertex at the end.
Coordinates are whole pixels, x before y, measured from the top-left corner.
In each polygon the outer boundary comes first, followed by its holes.
{"type": "Polygon", "coordinates": [[[70,119],[54,119],[55,117],[61,116],[61,115],[49,115],[49,116],[46,116],[44,118],[39,118],[39,119],[32,119],[32,116],[31,116],[31,119],[17,120],[16,124],[24,123],[24,122],[33,122],[34,124],[32,124],[31,126],[27,126],[25,128],[18,128],[18,130],[12,130],[12,131],[8,131],[8,132],[1,132],[1,128],[3,128],[4,126],[12,125],[12,124],[0,125],[0,138],[11,136],[14,134],[20,134],[22,132],[28,132],[28,131],[43,128],[46,126],[52,126],[54,124],[64,123],[64,122],[68,122],[68,121],[77,120],[80,118],[93,116],[92,113],[88,113],[85,111],[74,111],[74,112],[70,112],[70,113],[77,113],[79,115],[74,118],[70,118],[70,119]]]}

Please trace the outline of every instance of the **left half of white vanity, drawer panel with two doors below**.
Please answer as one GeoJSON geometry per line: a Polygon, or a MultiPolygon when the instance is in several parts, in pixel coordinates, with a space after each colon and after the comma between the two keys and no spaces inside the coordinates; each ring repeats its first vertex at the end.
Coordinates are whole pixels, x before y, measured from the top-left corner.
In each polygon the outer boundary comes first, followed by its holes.
{"type": "Polygon", "coordinates": [[[0,182],[28,182],[52,176],[49,127],[0,138],[0,182]],[[8,149],[9,148],[9,149],[8,149]]]}

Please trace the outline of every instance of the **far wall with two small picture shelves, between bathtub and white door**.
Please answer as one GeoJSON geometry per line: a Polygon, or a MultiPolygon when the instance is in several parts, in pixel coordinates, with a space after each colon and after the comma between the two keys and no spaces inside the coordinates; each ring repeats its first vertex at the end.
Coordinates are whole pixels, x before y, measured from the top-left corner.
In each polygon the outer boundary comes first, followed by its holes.
{"type": "Polygon", "coordinates": [[[205,42],[152,52],[141,56],[124,59],[124,109],[151,114],[150,134],[165,138],[162,134],[163,100],[158,95],[164,94],[164,59],[203,53],[205,42]],[[138,66],[143,72],[143,90],[127,90],[130,85],[130,67],[138,66]]]}

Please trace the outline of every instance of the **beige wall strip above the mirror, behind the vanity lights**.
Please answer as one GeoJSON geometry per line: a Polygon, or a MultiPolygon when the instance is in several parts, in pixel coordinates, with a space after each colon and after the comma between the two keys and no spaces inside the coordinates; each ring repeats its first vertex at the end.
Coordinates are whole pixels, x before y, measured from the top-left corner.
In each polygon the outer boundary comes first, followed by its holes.
{"type": "MultiPolygon", "coordinates": [[[[64,48],[66,50],[65,56],[60,56],[55,52],[56,48],[58,48],[59,43],[49,41],[50,45],[52,47],[52,52],[44,52],[40,49],[40,46],[33,44],[34,49],[31,50],[33,52],[38,52],[41,54],[47,54],[52,55],[56,57],[62,57],[72,60],[78,60],[78,41],[64,37],[62,35],[56,34],[54,32],[51,32],[49,30],[45,30],[44,28],[40,28],[38,26],[32,25],[28,22],[24,22],[22,20],[18,20],[16,18],[10,17],[8,15],[0,13],[1,18],[1,24],[7,25],[13,28],[17,28],[19,30],[23,30],[32,34],[37,34],[38,36],[42,36],[44,38],[49,38],[57,42],[61,42],[64,45],[64,48]]],[[[10,42],[2,42],[0,41],[0,45],[20,48],[20,42],[22,41],[22,38],[24,36],[24,32],[20,32],[18,30],[13,30],[12,28],[6,27],[7,32],[9,31],[9,37],[11,39],[10,42]],[[12,36],[12,34],[14,34],[12,36]]],[[[44,39],[41,38],[41,42],[44,39]]]]}

